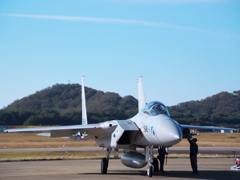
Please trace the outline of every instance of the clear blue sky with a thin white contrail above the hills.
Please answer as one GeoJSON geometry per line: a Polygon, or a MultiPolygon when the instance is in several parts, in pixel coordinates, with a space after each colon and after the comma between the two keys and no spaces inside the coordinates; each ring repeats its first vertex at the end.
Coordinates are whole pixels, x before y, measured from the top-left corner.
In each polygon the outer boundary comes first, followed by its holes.
{"type": "Polygon", "coordinates": [[[0,26],[0,109],[82,75],[167,106],[240,90],[238,0],[7,0],[0,26]]]}

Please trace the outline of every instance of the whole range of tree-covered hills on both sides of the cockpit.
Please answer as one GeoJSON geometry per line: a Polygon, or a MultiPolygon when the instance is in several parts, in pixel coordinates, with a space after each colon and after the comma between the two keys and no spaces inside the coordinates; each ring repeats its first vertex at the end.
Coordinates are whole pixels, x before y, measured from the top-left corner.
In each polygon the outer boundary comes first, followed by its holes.
{"type": "MultiPolygon", "coordinates": [[[[133,96],[85,88],[89,123],[128,119],[137,113],[133,96]]],[[[184,124],[240,127],[240,91],[221,92],[201,101],[169,107],[184,124]]],[[[81,122],[81,86],[56,84],[17,100],[0,110],[0,125],[67,125],[81,122]]]]}

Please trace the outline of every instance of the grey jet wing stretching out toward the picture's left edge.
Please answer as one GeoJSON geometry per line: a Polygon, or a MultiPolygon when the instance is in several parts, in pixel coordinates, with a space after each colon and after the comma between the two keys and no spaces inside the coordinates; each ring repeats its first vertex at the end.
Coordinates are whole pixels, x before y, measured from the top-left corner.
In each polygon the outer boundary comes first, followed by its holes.
{"type": "Polygon", "coordinates": [[[50,137],[105,137],[109,136],[117,127],[114,122],[108,121],[99,124],[73,125],[59,127],[23,128],[6,129],[5,132],[31,132],[31,131],[50,131],[50,133],[40,133],[42,136],[50,137]]]}

